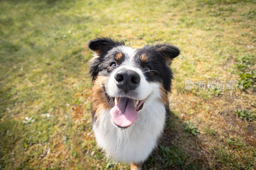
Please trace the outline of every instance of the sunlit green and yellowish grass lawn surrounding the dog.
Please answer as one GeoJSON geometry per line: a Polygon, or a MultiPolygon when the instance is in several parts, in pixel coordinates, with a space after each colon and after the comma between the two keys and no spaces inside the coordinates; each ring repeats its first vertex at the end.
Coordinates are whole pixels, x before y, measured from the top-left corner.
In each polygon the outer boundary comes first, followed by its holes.
{"type": "Polygon", "coordinates": [[[87,43],[100,36],[181,50],[159,141],[169,149],[156,148],[144,169],[255,169],[255,3],[0,1],[0,169],[129,169],[104,157],[90,129],[87,43]],[[186,90],[186,80],[244,88],[186,90]],[[184,133],[187,121],[196,127],[184,133]]]}

